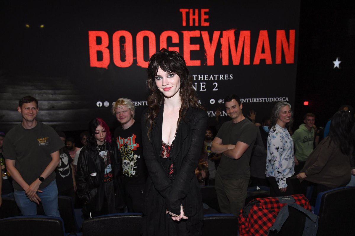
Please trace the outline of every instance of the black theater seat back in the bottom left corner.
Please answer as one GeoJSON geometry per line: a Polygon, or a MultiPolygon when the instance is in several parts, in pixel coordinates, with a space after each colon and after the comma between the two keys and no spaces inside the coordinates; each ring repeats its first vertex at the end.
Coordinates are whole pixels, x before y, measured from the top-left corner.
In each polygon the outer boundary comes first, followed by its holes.
{"type": "Polygon", "coordinates": [[[61,218],[45,215],[21,215],[0,219],[1,235],[64,236],[61,218]]]}

